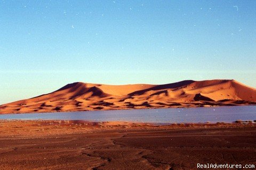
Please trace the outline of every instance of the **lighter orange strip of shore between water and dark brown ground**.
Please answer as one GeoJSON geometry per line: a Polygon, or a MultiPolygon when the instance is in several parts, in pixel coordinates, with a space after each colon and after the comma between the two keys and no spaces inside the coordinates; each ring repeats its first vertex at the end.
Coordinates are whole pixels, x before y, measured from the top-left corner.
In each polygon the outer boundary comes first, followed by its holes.
{"type": "Polygon", "coordinates": [[[256,128],[256,123],[172,123],[154,124],[138,122],[90,122],[85,120],[0,120],[0,136],[26,134],[76,134],[113,130],[171,130],[211,128],[256,128]]]}

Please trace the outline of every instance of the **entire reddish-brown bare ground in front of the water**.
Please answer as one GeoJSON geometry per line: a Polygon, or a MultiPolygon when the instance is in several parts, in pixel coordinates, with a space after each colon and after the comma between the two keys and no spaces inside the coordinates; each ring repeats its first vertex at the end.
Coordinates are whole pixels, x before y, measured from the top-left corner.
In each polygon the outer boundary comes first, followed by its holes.
{"type": "Polygon", "coordinates": [[[197,169],[256,165],[256,124],[0,121],[0,169],[197,169]]]}

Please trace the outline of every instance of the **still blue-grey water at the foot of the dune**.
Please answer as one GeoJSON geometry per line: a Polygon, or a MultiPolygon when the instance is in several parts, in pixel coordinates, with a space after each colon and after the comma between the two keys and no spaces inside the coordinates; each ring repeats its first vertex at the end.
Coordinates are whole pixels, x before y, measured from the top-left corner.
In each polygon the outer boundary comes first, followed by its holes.
{"type": "Polygon", "coordinates": [[[0,115],[0,119],[88,120],[92,122],[130,121],[145,123],[231,123],[237,119],[256,120],[256,106],[6,114],[0,115]]]}

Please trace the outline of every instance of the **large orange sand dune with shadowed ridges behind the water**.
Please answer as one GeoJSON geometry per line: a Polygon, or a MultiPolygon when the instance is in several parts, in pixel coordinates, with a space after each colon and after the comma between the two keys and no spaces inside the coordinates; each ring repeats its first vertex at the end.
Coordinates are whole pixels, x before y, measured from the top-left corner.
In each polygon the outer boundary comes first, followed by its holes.
{"type": "Polygon", "coordinates": [[[184,80],[164,85],[77,82],[52,93],[3,104],[0,114],[244,104],[256,104],[256,89],[235,80],[184,80]]]}

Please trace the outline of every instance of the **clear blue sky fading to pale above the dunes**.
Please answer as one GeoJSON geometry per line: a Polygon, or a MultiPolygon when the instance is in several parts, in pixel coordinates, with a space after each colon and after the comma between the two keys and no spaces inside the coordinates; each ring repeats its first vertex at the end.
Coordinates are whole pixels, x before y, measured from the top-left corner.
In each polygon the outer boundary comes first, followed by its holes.
{"type": "Polygon", "coordinates": [[[256,87],[256,1],[0,2],[0,104],[73,82],[256,87]]]}

